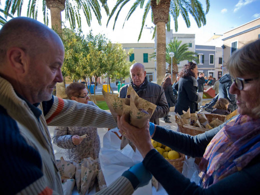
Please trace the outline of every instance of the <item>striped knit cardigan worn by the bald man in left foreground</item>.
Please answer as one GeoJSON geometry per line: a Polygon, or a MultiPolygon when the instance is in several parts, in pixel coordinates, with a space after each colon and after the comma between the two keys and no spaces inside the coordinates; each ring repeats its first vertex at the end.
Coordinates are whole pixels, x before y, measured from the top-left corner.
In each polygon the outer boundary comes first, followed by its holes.
{"type": "Polygon", "coordinates": [[[110,113],[60,99],[31,105],[0,77],[0,191],[63,194],[47,125],[116,126],[110,113]]]}

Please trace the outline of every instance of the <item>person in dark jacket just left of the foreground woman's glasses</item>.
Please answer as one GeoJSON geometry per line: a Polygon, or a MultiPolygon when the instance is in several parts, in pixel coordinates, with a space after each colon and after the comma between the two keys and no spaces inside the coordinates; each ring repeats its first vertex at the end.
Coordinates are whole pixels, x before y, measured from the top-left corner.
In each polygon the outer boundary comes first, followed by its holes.
{"type": "Polygon", "coordinates": [[[229,101],[228,109],[234,111],[237,108],[235,95],[229,93],[229,88],[232,84],[231,76],[229,73],[224,74],[219,78],[218,86],[218,99],[226,98],[229,101]]]}

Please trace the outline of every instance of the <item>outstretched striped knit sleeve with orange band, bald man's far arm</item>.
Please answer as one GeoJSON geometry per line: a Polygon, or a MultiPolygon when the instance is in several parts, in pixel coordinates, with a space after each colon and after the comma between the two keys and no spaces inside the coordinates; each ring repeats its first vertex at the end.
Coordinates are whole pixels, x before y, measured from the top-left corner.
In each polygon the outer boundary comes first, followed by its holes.
{"type": "Polygon", "coordinates": [[[50,126],[116,127],[116,122],[109,112],[93,105],[56,96],[53,96],[53,104],[49,111],[44,113],[46,122],[50,126]]]}

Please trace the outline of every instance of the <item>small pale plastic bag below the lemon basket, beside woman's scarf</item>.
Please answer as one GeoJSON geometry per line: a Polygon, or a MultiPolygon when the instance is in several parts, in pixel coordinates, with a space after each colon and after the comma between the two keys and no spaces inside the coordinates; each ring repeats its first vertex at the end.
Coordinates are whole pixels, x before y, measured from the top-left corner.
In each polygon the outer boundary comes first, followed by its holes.
{"type": "Polygon", "coordinates": [[[189,178],[191,182],[193,181],[198,185],[200,177],[198,176],[198,167],[194,160],[195,158],[187,158],[187,156],[185,157],[182,168],[182,174],[185,177],[189,178]]]}

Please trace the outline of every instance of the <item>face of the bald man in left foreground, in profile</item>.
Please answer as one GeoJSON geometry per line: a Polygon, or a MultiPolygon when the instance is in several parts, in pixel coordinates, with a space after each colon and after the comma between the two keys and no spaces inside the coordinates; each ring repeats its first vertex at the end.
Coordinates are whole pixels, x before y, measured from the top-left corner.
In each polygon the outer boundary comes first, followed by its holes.
{"type": "Polygon", "coordinates": [[[28,58],[27,75],[24,85],[26,98],[30,103],[49,100],[57,82],[62,82],[61,66],[64,59],[64,47],[59,39],[50,38],[46,48],[28,58]]]}

